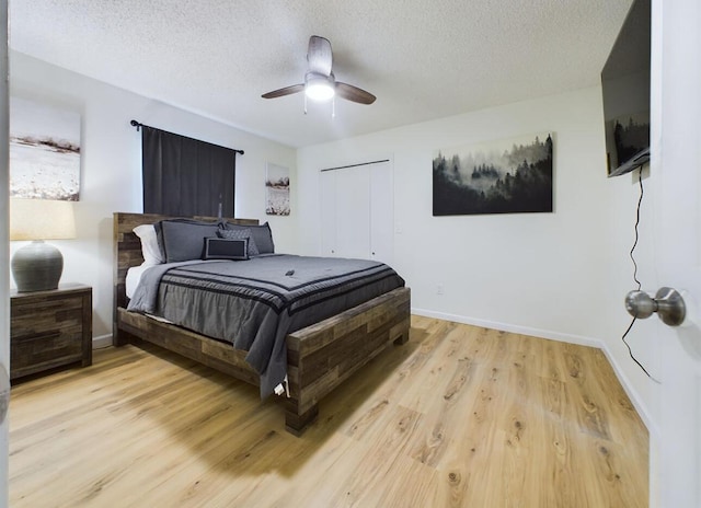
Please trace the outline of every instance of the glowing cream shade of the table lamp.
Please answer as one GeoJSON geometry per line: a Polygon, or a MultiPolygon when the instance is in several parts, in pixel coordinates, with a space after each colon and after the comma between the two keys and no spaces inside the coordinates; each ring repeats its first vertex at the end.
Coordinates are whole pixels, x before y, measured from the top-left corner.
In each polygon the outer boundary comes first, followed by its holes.
{"type": "Polygon", "coordinates": [[[10,240],[76,238],[73,204],[51,199],[10,199],[10,240]]]}

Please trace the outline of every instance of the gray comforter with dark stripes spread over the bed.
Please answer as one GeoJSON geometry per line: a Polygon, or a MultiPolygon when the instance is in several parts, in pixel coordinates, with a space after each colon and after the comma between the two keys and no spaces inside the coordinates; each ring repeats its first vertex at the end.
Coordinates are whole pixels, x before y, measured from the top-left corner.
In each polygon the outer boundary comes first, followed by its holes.
{"type": "Polygon", "coordinates": [[[148,269],[128,310],[248,351],[265,397],[287,374],[288,333],[402,286],[392,268],[365,259],[276,254],[244,262],[194,261],[148,269]]]}

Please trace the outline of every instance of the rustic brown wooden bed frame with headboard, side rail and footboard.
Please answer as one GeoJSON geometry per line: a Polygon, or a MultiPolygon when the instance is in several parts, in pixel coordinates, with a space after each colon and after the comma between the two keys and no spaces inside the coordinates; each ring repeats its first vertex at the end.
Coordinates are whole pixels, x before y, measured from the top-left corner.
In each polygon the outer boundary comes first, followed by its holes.
{"type": "MultiPolygon", "coordinates": [[[[127,312],[127,269],[143,262],[141,243],[133,230],[172,217],[152,213],[114,213],[114,325],[113,343],[120,346],[134,337],[199,361],[240,380],[258,385],[257,372],[244,360],[245,351],[230,344],[127,312]]],[[[212,217],[195,217],[216,220],[212,217]]],[[[257,224],[252,219],[227,219],[257,224]]],[[[285,428],[299,436],[319,414],[319,401],[390,344],[409,340],[409,288],[398,288],[298,332],[287,335],[285,428]]],[[[138,340],[136,340],[138,344],[138,340]]]]}

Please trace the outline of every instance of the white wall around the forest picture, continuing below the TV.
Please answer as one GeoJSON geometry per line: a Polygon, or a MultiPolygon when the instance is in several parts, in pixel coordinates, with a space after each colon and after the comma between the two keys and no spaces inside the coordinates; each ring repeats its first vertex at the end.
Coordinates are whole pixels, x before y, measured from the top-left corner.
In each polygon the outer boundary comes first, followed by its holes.
{"type": "Polygon", "coordinates": [[[380,158],[394,165],[393,265],[413,312],[604,347],[647,413],[650,383],[620,342],[637,187],[607,178],[600,88],[298,150],[301,253],[319,253],[319,170],[380,158]],[[541,131],[554,140],[553,213],[432,216],[436,150],[541,131]]]}

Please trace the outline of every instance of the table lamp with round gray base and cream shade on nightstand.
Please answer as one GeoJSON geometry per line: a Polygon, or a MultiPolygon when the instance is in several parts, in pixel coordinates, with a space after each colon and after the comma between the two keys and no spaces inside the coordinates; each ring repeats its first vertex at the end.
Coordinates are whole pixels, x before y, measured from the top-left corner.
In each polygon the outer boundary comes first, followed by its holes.
{"type": "Polygon", "coordinates": [[[64,256],[44,240],[76,238],[73,204],[51,199],[10,199],[10,240],[32,240],[12,256],[19,292],[58,288],[64,256]]]}

